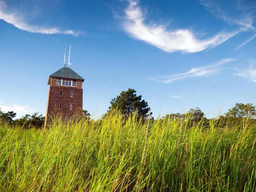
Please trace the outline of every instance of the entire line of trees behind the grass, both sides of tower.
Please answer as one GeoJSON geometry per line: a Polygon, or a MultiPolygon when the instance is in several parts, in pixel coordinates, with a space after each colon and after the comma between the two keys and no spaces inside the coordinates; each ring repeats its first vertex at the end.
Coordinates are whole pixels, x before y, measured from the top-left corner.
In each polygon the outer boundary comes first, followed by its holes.
{"type": "MultiPolygon", "coordinates": [[[[152,117],[151,108],[148,106],[148,102],[142,100],[142,96],[137,96],[136,91],[134,89],[129,88],[127,91],[122,91],[116,98],[110,101],[110,106],[106,114],[102,116],[104,119],[109,114],[112,114],[115,111],[121,112],[124,119],[127,119],[129,116],[136,114],[138,119],[142,119],[143,121],[150,119],[154,121],[154,117],[152,117]]],[[[83,116],[87,120],[91,120],[91,115],[87,110],[83,110],[83,116]]],[[[0,110],[0,121],[5,121],[9,124],[19,125],[26,129],[35,127],[42,128],[44,125],[45,117],[43,115],[38,115],[38,113],[34,113],[33,115],[26,114],[19,119],[13,120],[16,116],[16,113],[13,111],[8,111],[6,113],[0,110]]],[[[193,126],[193,124],[200,123],[202,126],[208,127],[210,126],[210,121],[214,121],[218,126],[226,126],[227,124],[231,126],[237,125],[240,123],[242,119],[249,119],[249,123],[256,123],[256,120],[253,119],[256,117],[256,107],[252,103],[236,103],[233,108],[228,109],[228,112],[224,115],[221,115],[215,119],[207,119],[204,116],[204,113],[200,108],[191,108],[186,113],[172,113],[166,114],[162,118],[158,118],[156,120],[160,121],[171,121],[172,119],[179,119],[186,121],[188,127],[193,126]]]]}

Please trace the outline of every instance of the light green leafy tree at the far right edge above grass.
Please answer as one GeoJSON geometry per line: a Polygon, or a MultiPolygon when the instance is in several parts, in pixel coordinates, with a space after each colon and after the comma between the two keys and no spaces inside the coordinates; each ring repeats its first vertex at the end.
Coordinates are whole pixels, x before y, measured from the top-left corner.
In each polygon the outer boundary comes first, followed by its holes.
{"type": "Polygon", "coordinates": [[[255,106],[252,103],[236,103],[235,107],[228,109],[228,112],[225,113],[226,117],[233,117],[233,118],[243,118],[243,117],[250,117],[256,115],[255,106]]]}

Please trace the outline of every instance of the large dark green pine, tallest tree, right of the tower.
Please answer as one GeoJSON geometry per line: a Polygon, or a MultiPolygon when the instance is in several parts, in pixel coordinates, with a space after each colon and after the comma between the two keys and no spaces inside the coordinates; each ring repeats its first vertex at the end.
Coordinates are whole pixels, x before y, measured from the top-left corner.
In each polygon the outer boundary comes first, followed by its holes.
{"type": "Polygon", "coordinates": [[[122,91],[120,95],[110,101],[109,111],[120,110],[124,116],[129,116],[137,111],[138,116],[143,119],[151,116],[148,102],[141,100],[141,95],[137,96],[134,89],[129,88],[127,91],[122,91]]]}

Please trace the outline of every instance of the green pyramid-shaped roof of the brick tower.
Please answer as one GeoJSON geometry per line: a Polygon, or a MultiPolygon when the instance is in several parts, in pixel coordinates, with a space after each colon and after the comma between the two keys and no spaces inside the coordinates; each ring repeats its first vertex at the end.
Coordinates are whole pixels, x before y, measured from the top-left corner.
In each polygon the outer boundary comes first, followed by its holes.
{"type": "MultiPolygon", "coordinates": [[[[75,71],[73,71],[69,67],[63,67],[50,75],[50,77],[58,77],[58,78],[67,78],[67,79],[76,79],[76,80],[82,80],[84,82],[84,78],[78,75],[75,71]]],[[[50,80],[50,78],[49,78],[50,80]]],[[[50,82],[48,81],[48,84],[50,82]]]]}

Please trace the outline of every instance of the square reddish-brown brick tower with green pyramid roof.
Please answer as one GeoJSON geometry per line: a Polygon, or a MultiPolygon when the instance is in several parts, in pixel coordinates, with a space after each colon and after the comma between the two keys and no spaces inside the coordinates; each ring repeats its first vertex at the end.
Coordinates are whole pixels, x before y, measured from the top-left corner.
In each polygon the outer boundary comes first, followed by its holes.
{"type": "Polygon", "coordinates": [[[49,115],[57,112],[58,119],[62,116],[71,121],[74,113],[83,108],[83,82],[84,78],[69,65],[65,66],[65,61],[63,68],[49,76],[45,125],[49,123],[49,115]]]}

